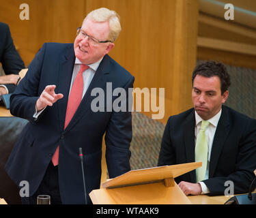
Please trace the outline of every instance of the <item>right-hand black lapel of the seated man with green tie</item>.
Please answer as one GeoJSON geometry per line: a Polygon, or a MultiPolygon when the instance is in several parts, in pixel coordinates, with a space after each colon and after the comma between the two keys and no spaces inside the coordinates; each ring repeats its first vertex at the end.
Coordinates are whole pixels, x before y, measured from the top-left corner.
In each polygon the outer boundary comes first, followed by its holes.
{"type": "Polygon", "coordinates": [[[212,143],[212,153],[210,157],[210,167],[209,167],[209,178],[214,175],[216,166],[218,163],[218,158],[221,155],[223,145],[229,134],[229,114],[227,108],[223,106],[221,112],[221,118],[218,121],[218,126],[214,135],[214,141],[212,143]]]}

